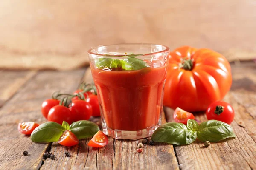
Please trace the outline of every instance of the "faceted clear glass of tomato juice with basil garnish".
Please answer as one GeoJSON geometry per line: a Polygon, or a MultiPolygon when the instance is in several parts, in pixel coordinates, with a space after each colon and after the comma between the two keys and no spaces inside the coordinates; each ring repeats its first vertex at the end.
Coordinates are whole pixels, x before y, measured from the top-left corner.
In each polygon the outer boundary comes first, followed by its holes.
{"type": "Polygon", "coordinates": [[[88,51],[103,132],[115,139],[149,137],[161,124],[169,48],[118,44],[88,51]]]}

